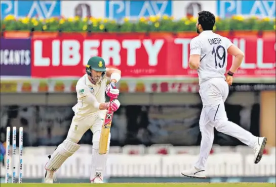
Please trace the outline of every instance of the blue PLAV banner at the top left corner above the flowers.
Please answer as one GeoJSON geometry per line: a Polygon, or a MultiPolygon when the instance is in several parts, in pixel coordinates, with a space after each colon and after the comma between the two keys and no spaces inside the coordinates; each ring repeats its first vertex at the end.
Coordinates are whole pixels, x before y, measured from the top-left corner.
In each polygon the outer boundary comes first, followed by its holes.
{"type": "Polygon", "coordinates": [[[8,15],[51,18],[60,12],[60,1],[1,1],[1,19],[8,15]]]}

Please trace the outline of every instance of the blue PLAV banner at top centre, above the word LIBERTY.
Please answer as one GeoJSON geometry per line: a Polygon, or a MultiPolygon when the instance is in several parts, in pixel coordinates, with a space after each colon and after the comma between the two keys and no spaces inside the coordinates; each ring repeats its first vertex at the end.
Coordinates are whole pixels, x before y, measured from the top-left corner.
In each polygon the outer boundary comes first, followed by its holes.
{"type": "Polygon", "coordinates": [[[172,16],[172,1],[105,1],[105,17],[139,19],[155,15],[172,16]]]}

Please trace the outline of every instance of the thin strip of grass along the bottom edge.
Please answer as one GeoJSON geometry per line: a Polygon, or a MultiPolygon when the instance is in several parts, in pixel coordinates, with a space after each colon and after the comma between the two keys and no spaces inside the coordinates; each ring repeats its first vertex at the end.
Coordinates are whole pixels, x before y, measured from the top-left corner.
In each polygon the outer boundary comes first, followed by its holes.
{"type": "Polygon", "coordinates": [[[275,187],[275,183],[8,183],[1,187],[275,187]]]}

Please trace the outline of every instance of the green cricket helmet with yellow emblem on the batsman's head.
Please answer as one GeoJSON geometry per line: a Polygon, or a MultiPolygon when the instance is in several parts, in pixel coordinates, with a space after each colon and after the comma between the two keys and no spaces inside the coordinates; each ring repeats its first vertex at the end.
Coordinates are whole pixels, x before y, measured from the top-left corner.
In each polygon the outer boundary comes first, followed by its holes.
{"type": "Polygon", "coordinates": [[[102,75],[104,75],[106,72],[104,59],[100,56],[91,57],[86,65],[86,73],[90,77],[92,76],[91,70],[102,72],[102,75]]]}

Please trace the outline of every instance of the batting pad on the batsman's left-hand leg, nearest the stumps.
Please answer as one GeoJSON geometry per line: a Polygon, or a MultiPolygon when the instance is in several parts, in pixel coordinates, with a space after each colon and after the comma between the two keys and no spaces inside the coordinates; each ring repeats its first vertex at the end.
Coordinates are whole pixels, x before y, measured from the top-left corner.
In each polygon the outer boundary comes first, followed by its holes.
{"type": "Polygon", "coordinates": [[[54,171],[58,170],[63,162],[65,162],[65,160],[74,154],[79,148],[80,145],[65,140],[54,151],[51,158],[45,165],[45,169],[54,171]]]}

